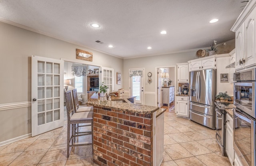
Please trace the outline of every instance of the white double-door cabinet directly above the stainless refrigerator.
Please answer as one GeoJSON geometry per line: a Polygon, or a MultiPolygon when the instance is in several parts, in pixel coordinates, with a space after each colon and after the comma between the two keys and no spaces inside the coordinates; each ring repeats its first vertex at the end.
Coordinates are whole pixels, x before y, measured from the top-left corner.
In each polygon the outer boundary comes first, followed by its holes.
{"type": "Polygon", "coordinates": [[[188,61],[189,71],[197,71],[203,69],[216,69],[215,55],[212,57],[203,57],[195,60],[188,61]]]}

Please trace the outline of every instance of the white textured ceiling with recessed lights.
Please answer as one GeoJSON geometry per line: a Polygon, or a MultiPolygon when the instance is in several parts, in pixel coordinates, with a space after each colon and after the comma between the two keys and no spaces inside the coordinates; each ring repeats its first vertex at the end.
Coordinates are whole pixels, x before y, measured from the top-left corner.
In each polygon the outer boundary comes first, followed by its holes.
{"type": "Polygon", "coordinates": [[[0,0],[0,20],[126,59],[234,39],[230,28],[246,5],[242,1],[0,0]],[[210,24],[214,18],[219,21],[210,24]]]}

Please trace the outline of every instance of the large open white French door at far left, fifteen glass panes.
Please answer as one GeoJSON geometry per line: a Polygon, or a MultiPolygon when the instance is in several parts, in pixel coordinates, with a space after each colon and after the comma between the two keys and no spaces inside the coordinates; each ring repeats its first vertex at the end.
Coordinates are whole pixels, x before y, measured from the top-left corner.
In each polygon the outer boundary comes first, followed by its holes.
{"type": "Polygon", "coordinates": [[[63,66],[63,60],[32,56],[32,136],[64,125],[63,66]]]}

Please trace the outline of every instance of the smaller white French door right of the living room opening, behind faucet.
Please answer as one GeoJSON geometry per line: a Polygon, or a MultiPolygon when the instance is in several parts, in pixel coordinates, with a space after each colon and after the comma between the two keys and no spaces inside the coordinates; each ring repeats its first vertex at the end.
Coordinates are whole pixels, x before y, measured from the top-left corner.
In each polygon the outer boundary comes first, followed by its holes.
{"type": "Polygon", "coordinates": [[[114,69],[108,67],[101,67],[101,82],[104,82],[109,89],[109,92],[114,91],[114,69]]]}

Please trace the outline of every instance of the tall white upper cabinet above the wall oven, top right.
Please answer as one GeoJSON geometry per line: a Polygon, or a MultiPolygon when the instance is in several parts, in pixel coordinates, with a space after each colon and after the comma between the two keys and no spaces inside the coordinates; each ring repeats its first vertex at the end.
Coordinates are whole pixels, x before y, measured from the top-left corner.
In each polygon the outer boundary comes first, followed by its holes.
{"type": "Polygon", "coordinates": [[[236,70],[256,65],[256,0],[250,0],[231,28],[236,33],[236,70]]]}

